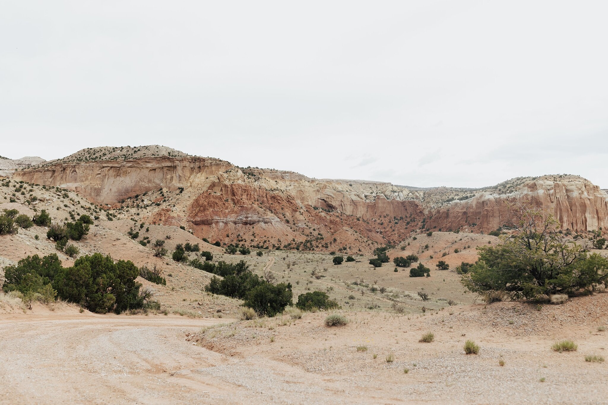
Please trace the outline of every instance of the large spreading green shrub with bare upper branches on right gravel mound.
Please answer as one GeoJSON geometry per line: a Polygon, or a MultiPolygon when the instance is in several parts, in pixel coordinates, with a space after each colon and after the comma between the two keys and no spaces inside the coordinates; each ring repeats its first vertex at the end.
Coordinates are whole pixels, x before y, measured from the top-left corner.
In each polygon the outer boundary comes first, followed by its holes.
{"type": "Polygon", "coordinates": [[[479,252],[462,279],[475,293],[505,291],[510,299],[533,299],[608,284],[608,259],[568,242],[558,222],[551,216],[544,219],[539,209],[523,209],[516,234],[479,252]]]}

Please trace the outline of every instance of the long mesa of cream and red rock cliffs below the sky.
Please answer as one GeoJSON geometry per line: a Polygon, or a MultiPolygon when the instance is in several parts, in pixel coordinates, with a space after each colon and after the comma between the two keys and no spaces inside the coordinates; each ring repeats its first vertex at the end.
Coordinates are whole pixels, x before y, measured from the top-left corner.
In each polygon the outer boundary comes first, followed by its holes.
{"type": "Polygon", "coordinates": [[[15,172],[91,202],[142,209],[151,223],[265,247],[371,250],[413,231],[496,230],[507,203],[541,206],[576,232],[608,227],[608,194],[573,175],[520,177],[483,189],[408,188],[238,168],[161,146],[83,149],[15,172]],[[257,228],[255,228],[257,226],[257,228]]]}

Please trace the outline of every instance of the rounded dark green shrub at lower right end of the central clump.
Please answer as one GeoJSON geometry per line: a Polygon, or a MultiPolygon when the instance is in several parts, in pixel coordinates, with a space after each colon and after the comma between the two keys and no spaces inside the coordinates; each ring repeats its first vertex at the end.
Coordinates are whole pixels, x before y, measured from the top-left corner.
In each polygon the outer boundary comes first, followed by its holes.
{"type": "Polygon", "coordinates": [[[247,291],[244,305],[254,308],[260,315],[275,316],[291,305],[292,297],[291,283],[270,284],[263,281],[247,291]]]}

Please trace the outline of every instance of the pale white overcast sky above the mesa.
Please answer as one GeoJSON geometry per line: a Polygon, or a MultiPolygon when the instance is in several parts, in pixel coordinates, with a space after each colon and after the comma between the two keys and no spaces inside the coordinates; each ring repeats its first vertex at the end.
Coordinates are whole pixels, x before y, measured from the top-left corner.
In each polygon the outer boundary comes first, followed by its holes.
{"type": "Polygon", "coordinates": [[[0,155],[608,187],[608,2],[4,1],[0,155]]]}

